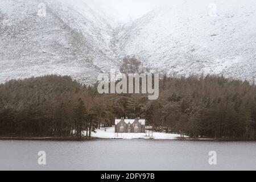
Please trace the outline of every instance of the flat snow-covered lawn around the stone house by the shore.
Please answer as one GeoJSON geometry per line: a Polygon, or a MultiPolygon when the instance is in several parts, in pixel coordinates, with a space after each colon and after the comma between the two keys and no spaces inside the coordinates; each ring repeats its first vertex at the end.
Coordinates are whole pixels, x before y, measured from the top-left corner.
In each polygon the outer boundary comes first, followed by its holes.
{"type": "MultiPolygon", "coordinates": [[[[115,127],[102,128],[96,130],[97,133],[92,133],[92,137],[105,139],[177,139],[179,134],[153,133],[153,137],[146,137],[145,133],[115,133],[115,127]],[[106,129],[106,131],[105,131],[106,129]]],[[[185,136],[187,137],[187,136],[185,136]]]]}

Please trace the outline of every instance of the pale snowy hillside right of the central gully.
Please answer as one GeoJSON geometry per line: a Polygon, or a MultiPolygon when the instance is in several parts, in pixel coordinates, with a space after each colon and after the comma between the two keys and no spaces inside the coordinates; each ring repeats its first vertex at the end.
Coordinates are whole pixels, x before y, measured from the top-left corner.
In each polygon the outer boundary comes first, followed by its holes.
{"type": "Polygon", "coordinates": [[[137,55],[171,75],[256,76],[256,2],[169,1],[117,36],[119,55],[137,55]],[[214,3],[211,12],[211,3],[214,3]]]}

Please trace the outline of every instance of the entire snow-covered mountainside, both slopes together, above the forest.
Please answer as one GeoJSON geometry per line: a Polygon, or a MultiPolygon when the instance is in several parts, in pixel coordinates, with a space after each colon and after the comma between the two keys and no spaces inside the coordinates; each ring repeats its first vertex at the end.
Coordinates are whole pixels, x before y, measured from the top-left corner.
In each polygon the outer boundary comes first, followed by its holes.
{"type": "MultiPolygon", "coordinates": [[[[135,55],[170,75],[256,77],[254,0],[160,3],[130,24],[85,0],[1,0],[0,82],[46,74],[85,84],[135,55]],[[39,17],[39,3],[46,17],[39,17]]],[[[109,10],[111,11],[111,10],[109,10]]]]}

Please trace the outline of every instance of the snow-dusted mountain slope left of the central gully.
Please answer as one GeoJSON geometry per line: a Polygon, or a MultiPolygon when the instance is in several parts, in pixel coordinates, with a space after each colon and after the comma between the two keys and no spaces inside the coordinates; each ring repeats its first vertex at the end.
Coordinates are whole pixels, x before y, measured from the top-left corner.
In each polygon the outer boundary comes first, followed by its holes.
{"type": "Polygon", "coordinates": [[[88,84],[113,63],[111,25],[85,3],[37,0],[0,2],[0,82],[46,74],[71,75],[88,84]],[[4,8],[3,8],[4,7],[4,8]]]}

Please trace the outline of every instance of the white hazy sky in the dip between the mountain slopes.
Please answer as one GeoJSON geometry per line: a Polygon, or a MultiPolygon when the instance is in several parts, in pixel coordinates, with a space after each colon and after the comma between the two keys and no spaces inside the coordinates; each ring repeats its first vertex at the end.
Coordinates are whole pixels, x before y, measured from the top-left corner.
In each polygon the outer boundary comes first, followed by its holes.
{"type": "Polygon", "coordinates": [[[112,11],[112,15],[117,16],[117,19],[129,21],[136,19],[148,11],[152,10],[159,2],[159,0],[84,0],[92,1],[94,6],[103,6],[106,11],[112,11]]]}

